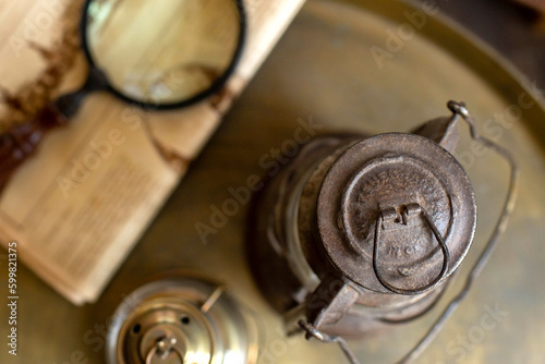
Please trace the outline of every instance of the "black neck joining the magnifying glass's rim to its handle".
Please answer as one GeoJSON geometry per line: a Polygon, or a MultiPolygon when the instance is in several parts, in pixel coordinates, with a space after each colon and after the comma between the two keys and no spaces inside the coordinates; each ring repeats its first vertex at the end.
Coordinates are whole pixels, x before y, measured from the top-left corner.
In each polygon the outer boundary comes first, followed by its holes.
{"type": "Polygon", "coordinates": [[[97,69],[96,66],[90,66],[89,72],[87,73],[87,78],[83,86],[66,95],[63,95],[55,101],[57,109],[59,112],[65,118],[72,118],[76,114],[80,106],[82,105],[83,99],[87,94],[104,90],[108,88],[108,81],[102,71],[97,69]]]}

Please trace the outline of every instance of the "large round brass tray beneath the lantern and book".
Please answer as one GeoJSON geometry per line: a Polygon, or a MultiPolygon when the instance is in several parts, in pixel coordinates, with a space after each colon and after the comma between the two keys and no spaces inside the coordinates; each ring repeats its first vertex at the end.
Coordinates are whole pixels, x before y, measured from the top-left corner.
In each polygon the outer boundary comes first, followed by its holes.
{"type": "MultiPolygon", "coordinates": [[[[19,268],[19,355],[9,355],[4,344],[0,362],[104,363],[106,326],[122,299],[155,274],[193,269],[227,282],[257,313],[261,363],[343,363],[336,345],[284,338],[280,316],[249,272],[246,203],[206,244],[195,225],[210,225],[213,206],[221,209],[231,198],[230,189],[266,173],[271,148],[294,137],[298,120],[313,118],[323,125],[320,133],[408,131],[447,116],[446,102],[455,99],[468,102],[484,135],[513,151],[521,169],[520,193],[510,226],[475,289],[419,363],[543,363],[544,107],[534,99],[531,83],[443,16],[426,15],[425,25],[413,26],[411,35],[407,12],[423,11],[420,7],[397,0],[310,0],[97,304],[74,307],[19,268]],[[404,32],[404,39],[388,50],[391,32],[404,32]],[[373,46],[389,52],[383,68],[373,46]]],[[[469,139],[464,128],[462,138],[469,139]]],[[[480,216],[475,244],[451,292],[460,289],[460,278],[491,232],[507,181],[507,167],[492,153],[471,151],[467,143],[459,156],[474,183],[480,216]]],[[[7,284],[7,269],[1,277],[7,284]]],[[[364,363],[392,363],[417,341],[445,302],[389,336],[350,344],[364,363]]],[[[4,305],[0,316],[9,316],[4,305]]],[[[0,336],[7,335],[2,324],[0,336]]]]}

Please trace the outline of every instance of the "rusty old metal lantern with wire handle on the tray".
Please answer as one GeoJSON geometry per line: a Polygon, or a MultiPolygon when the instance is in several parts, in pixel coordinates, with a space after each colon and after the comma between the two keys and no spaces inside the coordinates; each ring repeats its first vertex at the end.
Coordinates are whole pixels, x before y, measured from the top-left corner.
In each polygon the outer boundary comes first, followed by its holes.
{"type": "Polygon", "coordinates": [[[427,313],[472,245],[476,204],[452,156],[459,120],[509,162],[504,213],[470,272],[428,333],[433,340],[489,257],[512,209],[517,168],[504,148],[477,135],[463,104],[412,133],[324,135],[304,145],[256,197],[249,257],[258,284],[288,331],[338,342],[363,338],[427,313]]]}

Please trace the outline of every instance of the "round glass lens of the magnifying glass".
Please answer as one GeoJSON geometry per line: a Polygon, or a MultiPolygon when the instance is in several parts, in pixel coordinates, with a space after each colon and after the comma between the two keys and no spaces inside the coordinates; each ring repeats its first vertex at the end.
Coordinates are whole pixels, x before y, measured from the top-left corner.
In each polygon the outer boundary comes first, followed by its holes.
{"type": "Polygon", "coordinates": [[[180,106],[221,86],[241,33],[235,0],[92,0],[84,43],[117,94],[180,106]]]}

